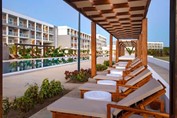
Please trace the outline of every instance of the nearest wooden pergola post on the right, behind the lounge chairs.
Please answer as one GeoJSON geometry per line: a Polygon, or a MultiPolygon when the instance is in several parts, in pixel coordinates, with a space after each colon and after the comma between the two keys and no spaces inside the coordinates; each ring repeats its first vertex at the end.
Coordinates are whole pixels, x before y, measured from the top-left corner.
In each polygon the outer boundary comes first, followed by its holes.
{"type": "Polygon", "coordinates": [[[147,18],[142,21],[142,61],[147,65],[147,18]]]}

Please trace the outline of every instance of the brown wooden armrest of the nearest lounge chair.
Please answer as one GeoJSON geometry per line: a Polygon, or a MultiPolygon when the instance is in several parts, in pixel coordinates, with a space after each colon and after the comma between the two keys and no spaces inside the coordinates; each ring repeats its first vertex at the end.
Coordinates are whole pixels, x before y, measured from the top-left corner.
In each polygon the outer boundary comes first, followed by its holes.
{"type": "Polygon", "coordinates": [[[116,105],[116,104],[107,104],[107,118],[111,118],[111,108],[122,109],[122,110],[133,112],[133,113],[152,115],[155,117],[169,118],[169,114],[167,114],[167,113],[153,112],[153,111],[149,111],[149,110],[136,109],[136,108],[121,106],[121,105],[116,105]]]}

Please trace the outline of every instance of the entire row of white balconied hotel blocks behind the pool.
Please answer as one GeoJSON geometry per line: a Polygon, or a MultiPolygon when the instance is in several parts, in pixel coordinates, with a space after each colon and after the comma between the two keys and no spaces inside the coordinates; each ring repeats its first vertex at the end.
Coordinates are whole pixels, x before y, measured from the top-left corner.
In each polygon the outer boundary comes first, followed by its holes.
{"type": "MultiPolygon", "coordinates": [[[[3,43],[33,44],[78,49],[78,31],[68,26],[55,26],[37,19],[2,9],[3,43]]],[[[81,50],[91,49],[91,36],[81,32],[81,50]]],[[[106,46],[106,38],[97,34],[97,51],[106,46]]]]}

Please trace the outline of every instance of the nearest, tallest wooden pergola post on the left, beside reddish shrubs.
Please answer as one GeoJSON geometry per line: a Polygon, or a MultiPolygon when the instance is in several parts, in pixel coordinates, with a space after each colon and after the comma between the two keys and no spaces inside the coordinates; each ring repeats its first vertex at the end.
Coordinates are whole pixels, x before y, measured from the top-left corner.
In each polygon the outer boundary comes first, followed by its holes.
{"type": "Polygon", "coordinates": [[[91,23],[91,77],[96,75],[96,23],[91,23]]]}

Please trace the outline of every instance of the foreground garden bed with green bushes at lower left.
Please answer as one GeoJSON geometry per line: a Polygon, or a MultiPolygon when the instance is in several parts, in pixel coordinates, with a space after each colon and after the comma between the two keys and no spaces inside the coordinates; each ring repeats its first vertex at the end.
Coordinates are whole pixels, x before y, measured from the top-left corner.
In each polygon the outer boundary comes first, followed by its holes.
{"type": "Polygon", "coordinates": [[[29,85],[24,95],[9,101],[3,100],[4,118],[28,118],[39,110],[59,99],[69,90],[65,90],[59,81],[44,79],[42,85],[29,85]]]}

